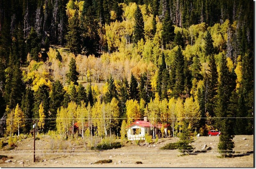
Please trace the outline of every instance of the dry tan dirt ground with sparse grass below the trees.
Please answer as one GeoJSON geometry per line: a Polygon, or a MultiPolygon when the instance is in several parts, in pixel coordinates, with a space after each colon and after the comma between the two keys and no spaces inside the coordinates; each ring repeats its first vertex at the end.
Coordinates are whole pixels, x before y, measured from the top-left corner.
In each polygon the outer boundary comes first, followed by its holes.
{"type": "Polygon", "coordinates": [[[195,151],[208,151],[194,155],[180,156],[178,150],[159,150],[167,143],[174,143],[179,138],[158,139],[149,145],[132,145],[107,151],[85,151],[74,146],[68,151],[48,151],[51,144],[47,136],[36,140],[36,159],[33,163],[33,140],[24,139],[17,143],[12,151],[0,150],[0,155],[8,157],[0,160],[0,167],[254,167],[253,136],[234,137],[236,157],[220,158],[218,136],[195,137],[192,146],[195,151]],[[209,150],[210,149],[210,150],[209,150]],[[250,152],[251,151],[251,152],[250,152]],[[250,152],[248,155],[245,153],[250,152]],[[42,153],[42,154],[40,154],[42,153]],[[244,153],[244,154],[243,154],[244,153]],[[98,160],[112,159],[112,163],[94,164],[98,160]],[[10,162],[5,162],[11,160],[10,162]],[[142,164],[135,164],[137,161],[142,164]]]}

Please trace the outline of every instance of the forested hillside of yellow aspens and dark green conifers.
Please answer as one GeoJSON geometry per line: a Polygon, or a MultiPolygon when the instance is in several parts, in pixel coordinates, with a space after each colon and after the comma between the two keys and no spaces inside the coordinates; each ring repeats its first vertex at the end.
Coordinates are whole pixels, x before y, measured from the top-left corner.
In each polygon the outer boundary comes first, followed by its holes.
{"type": "Polygon", "coordinates": [[[172,136],[252,135],[253,12],[251,0],[0,0],[0,134],[36,121],[62,139],[75,123],[122,137],[147,116],[172,136]]]}

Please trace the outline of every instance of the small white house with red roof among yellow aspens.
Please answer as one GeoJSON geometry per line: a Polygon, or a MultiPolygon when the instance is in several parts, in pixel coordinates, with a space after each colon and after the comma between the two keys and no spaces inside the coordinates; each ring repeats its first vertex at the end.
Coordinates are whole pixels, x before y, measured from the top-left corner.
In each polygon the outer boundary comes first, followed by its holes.
{"type": "MultiPolygon", "coordinates": [[[[158,124],[157,126],[151,125],[151,127],[158,128],[159,131],[159,129],[162,127],[162,124],[158,124]]],[[[145,140],[146,133],[152,135],[152,131],[150,130],[150,122],[147,121],[147,117],[144,117],[144,121],[135,121],[134,123],[127,126],[126,129],[128,140],[145,140]]]]}

